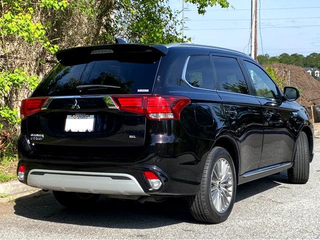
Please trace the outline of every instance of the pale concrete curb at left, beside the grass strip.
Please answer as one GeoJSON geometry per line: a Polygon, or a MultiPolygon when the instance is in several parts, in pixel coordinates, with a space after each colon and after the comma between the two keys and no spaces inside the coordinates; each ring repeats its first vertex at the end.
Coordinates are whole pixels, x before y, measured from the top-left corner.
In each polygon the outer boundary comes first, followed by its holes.
{"type": "Polygon", "coordinates": [[[6,203],[15,201],[17,198],[22,196],[41,196],[48,194],[49,192],[44,192],[42,189],[37,187],[28,186],[17,180],[0,183],[0,193],[8,194],[6,197],[0,197],[0,203],[6,203]]]}

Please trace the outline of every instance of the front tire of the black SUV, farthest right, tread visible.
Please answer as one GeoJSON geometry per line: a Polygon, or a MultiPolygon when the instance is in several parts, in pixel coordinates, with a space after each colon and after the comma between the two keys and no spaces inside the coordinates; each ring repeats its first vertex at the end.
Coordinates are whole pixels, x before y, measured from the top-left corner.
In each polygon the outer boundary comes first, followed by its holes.
{"type": "Polygon", "coordinates": [[[304,184],[309,179],[309,143],[305,132],[298,136],[293,166],[287,170],[290,183],[304,184]]]}

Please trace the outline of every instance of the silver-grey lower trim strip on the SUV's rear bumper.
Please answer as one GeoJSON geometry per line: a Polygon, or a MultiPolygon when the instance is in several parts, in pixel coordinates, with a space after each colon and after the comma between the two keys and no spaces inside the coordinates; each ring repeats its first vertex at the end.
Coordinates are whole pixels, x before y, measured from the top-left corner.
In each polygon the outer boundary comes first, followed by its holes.
{"type": "Polygon", "coordinates": [[[32,169],[27,184],[58,191],[148,195],[134,176],[125,173],[32,169]]]}

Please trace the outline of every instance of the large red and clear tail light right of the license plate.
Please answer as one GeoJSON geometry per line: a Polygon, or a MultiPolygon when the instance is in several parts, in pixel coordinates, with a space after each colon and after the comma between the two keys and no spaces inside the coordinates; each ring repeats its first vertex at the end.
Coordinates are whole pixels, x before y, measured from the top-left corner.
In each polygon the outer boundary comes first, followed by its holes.
{"type": "Polygon", "coordinates": [[[110,95],[123,111],[145,114],[154,120],[179,120],[180,113],[190,103],[186,96],[171,95],[110,95]]]}

